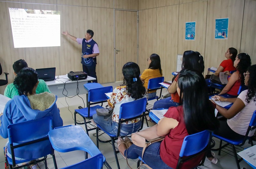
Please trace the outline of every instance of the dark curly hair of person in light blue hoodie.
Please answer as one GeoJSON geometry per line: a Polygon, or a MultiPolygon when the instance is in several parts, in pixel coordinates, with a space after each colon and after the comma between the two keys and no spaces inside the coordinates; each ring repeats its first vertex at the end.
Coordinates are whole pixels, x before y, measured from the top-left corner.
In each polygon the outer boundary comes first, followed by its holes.
{"type": "Polygon", "coordinates": [[[15,77],[13,84],[17,88],[19,95],[32,94],[33,88],[38,81],[36,70],[30,67],[24,67],[15,77]]]}

